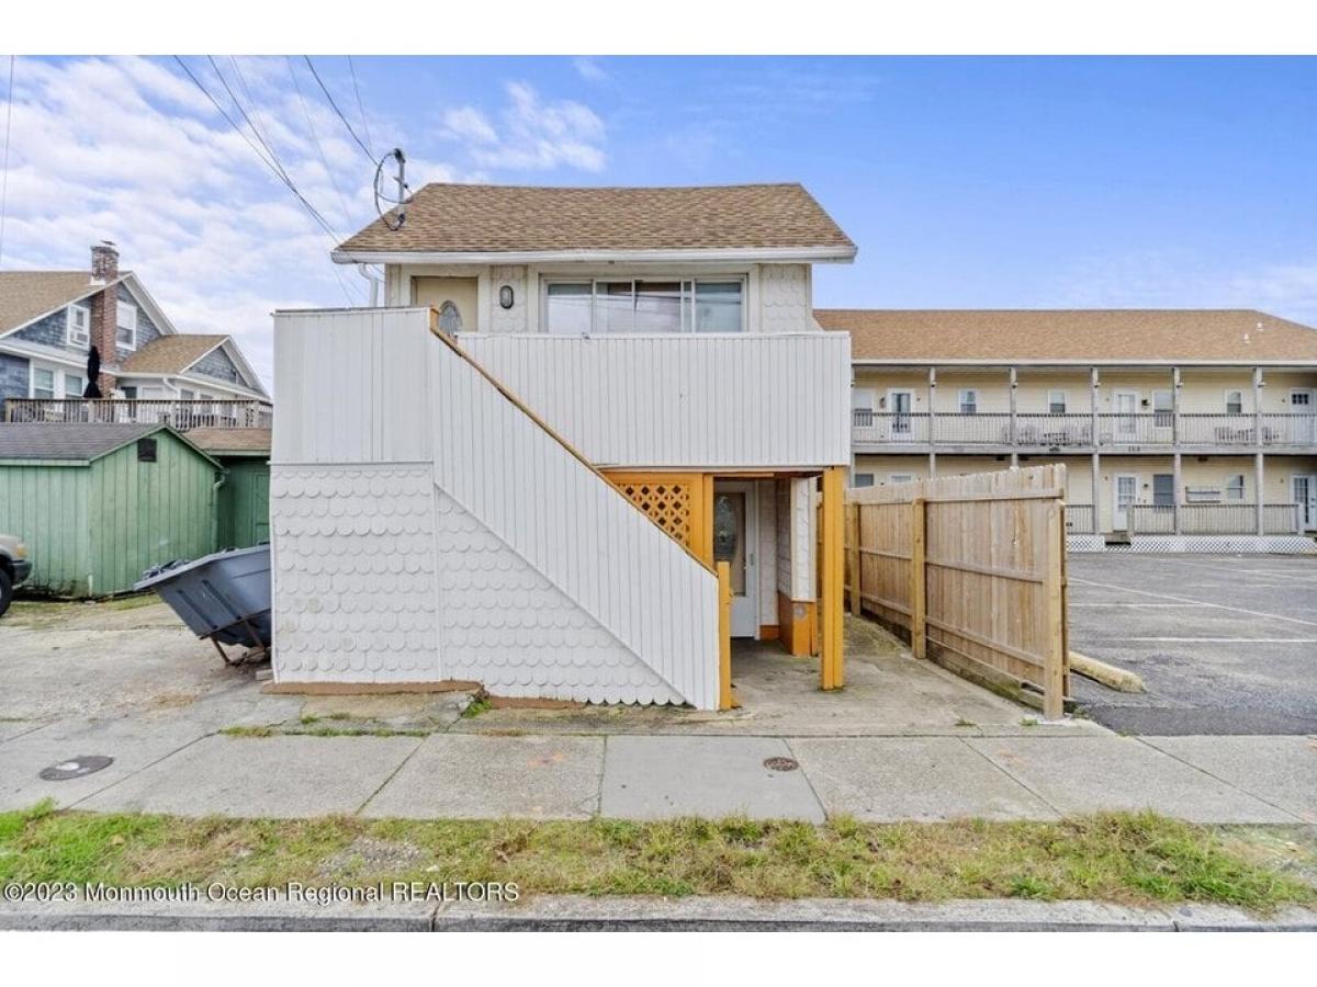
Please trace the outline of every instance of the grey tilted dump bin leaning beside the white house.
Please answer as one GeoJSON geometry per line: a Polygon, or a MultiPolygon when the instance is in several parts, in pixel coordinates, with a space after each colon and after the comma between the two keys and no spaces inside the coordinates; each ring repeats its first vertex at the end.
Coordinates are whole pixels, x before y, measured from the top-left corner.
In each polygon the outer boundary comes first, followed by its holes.
{"type": "Polygon", "coordinates": [[[154,590],[198,637],[209,638],[225,665],[270,657],[269,545],[153,566],[133,588],[154,590]],[[229,658],[224,645],[246,650],[229,658]]]}

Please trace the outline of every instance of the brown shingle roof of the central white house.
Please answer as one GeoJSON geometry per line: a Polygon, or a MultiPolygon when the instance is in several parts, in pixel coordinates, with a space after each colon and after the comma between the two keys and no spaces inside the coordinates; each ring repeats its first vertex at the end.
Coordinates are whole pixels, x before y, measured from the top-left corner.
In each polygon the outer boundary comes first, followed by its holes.
{"type": "MultiPolygon", "coordinates": [[[[390,220],[392,213],[390,213],[390,220]]],[[[855,243],[799,184],[551,188],[428,184],[407,221],[383,220],[345,253],[514,253],[832,247],[855,243]]]]}

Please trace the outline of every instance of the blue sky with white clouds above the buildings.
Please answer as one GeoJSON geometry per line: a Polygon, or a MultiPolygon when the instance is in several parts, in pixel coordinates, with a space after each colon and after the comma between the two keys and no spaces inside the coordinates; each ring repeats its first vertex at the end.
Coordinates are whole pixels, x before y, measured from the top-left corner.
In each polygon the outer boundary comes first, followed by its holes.
{"type": "MultiPolygon", "coordinates": [[[[371,217],[366,155],[300,58],[186,61],[336,232],[371,217]]],[[[818,271],[820,305],[1317,324],[1317,59],[357,58],[365,113],[346,59],[315,63],[415,182],[799,180],[860,246],[818,271]]],[[[265,374],[271,308],[360,297],[171,59],[20,58],[12,141],[5,267],[116,240],[182,328],[236,333],[265,374]]]]}

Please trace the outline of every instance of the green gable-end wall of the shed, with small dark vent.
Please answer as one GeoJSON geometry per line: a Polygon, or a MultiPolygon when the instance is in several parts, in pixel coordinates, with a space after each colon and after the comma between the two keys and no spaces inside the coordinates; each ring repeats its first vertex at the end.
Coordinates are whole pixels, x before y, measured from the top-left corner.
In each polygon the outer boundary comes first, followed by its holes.
{"type": "Polygon", "coordinates": [[[92,595],[124,592],[142,570],[215,550],[216,466],[167,432],[157,432],[153,463],[137,443],[91,465],[87,520],[92,595]]]}

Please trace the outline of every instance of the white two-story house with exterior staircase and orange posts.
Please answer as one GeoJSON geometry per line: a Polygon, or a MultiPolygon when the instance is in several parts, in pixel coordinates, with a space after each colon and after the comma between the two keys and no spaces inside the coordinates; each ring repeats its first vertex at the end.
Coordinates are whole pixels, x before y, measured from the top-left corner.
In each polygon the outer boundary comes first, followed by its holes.
{"type": "Polygon", "coordinates": [[[275,318],[275,678],[715,708],[727,626],[839,686],[849,340],[811,271],[853,255],[795,184],[427,186],[348,240],[389,308],[275,318]]]}

